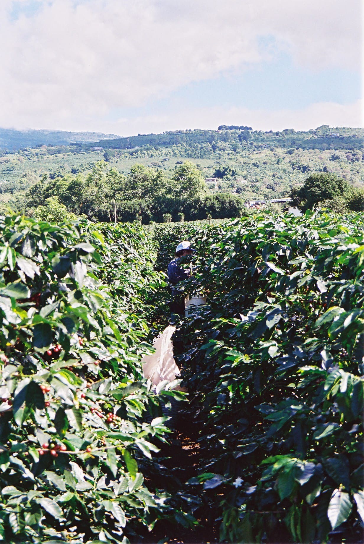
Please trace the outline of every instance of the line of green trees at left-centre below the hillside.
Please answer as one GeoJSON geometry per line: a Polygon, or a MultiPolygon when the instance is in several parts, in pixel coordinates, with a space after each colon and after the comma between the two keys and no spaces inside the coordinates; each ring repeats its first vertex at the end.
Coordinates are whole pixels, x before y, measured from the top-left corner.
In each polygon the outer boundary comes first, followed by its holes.
{"type": "Polygon", "coordinates": [[[40,219],[85,215],[93,221],[162,222],[173,220],[239,217],[244,202],[233,194],[211,194],[197,166],[186,161],[166,172],[135,164],[125,176],[105,161],[88,174],[70,174],[34,184],[14,207],[40,219]]]}

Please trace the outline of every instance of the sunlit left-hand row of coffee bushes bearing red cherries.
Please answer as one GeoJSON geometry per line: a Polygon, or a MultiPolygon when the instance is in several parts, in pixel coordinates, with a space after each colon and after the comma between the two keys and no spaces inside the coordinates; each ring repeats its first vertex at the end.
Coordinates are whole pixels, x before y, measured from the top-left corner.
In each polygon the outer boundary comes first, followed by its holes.
{"type": "Polygon", "coordinates": [[[168,512],[143,477],[173,395],[142,377],[150,244],[136,225],[0,227],[0,539],[126,544],[168,512]]]}

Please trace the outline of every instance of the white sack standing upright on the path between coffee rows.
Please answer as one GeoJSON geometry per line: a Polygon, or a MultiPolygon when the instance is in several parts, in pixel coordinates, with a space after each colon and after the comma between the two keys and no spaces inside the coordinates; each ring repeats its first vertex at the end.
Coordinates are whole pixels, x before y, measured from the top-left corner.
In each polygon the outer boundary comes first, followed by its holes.
{"type": "MultiPolygon", "coordinates": [[[[158,385],[164,380],[171,382],[180,374],[173,357],[173,343],[171,338],[174,331],[175,327],[168,325],[153,342],[155,353],[142,358],[143,374],[153,385],[158,385]]],[[[174,389],[182,391],[179,386],[174,387],[174,389]]]]}

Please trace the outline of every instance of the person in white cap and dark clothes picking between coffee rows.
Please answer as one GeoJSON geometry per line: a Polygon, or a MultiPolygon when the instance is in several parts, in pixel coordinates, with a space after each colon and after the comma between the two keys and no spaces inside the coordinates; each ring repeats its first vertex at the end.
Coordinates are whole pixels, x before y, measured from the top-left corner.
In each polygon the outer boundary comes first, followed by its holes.
{"type": "Polygon", "coordinates": [[[191,248],[191,242],[184,240],[178,244],[175,249],[175,257],[168,264],[167,275],[172,286],[172,301],[171,314],[178,314],[181,317],[185,315],[185,294],[183,290],[178,288],[178,283],[185,280],[191,274],[188,270],[184,270],[179,260],[181,257],[192,255],[196,250],[191,248]]]}

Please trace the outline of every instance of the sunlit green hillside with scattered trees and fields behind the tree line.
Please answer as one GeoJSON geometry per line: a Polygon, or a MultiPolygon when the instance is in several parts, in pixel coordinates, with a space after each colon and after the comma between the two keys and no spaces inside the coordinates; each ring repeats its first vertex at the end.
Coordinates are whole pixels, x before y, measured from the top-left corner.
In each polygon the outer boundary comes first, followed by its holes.
{"type": "Polygon", "coordinates": [[[124,175],[135,164],[142,164],[163,171],[170,179],[175,168],[189,160],[204,178],[216,178],[207,189],[238,194],[243,200],[288,196],[292,187],[317,171],[364,183],[362,129],[323,125],[308,132],[259,132],[250,128],[221,126],[218,131],[179,131],[3,151],[1,199],[9,201],[12,195],[23,194],[45,174],[51,179],[87,176],[99,160],[124,175]]]}

